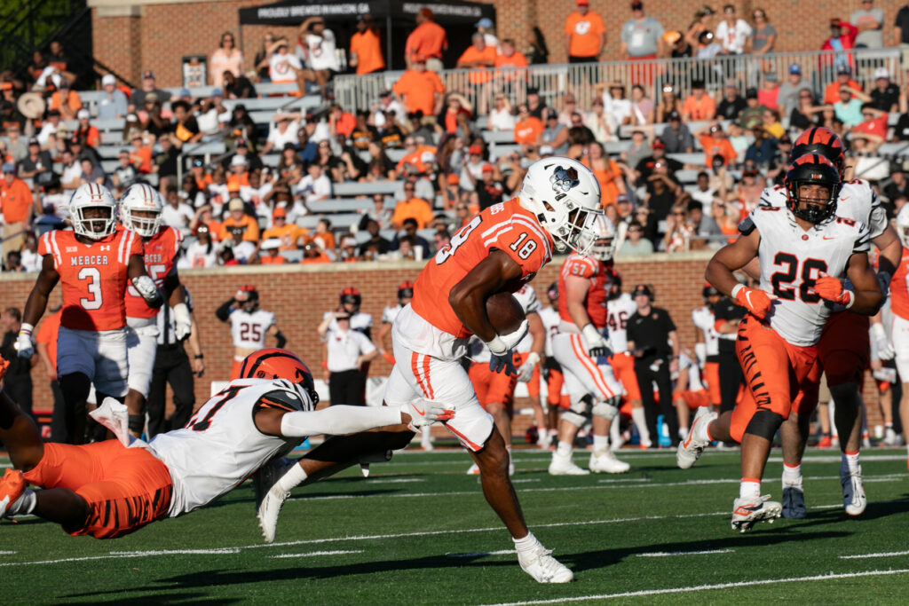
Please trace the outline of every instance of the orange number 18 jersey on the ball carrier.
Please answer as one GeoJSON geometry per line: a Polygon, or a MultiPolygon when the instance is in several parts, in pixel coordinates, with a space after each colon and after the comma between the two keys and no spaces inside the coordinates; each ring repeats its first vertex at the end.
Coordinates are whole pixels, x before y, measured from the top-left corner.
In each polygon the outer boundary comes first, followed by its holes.
{"type": "Polygon", "coordinates": [[[474,215],[454,233],[451,243],[435,253],[414,285],[414,311],[426,322],[458,339],[472,333],[458,319],[448,293],[454,284],[482,262],[491,250],[508,254],[521,266],[521,279],[505,284],[516,293],[553,258],[553,238],[533,214],[521,208],[517,198],[494,204],[474,215]]]}

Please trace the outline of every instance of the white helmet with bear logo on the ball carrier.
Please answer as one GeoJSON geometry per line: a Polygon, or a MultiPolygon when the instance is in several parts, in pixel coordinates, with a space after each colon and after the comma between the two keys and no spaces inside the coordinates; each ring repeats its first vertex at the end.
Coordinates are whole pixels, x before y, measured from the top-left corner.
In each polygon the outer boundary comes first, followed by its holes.
{"type": "Polygon", "coordinates": [[[562,156],[537,160],[524,175],[518,200],[552,234],[558,251],[590,252],[594,219],[603,210],[600,184],[584,164],[562,156]]]}

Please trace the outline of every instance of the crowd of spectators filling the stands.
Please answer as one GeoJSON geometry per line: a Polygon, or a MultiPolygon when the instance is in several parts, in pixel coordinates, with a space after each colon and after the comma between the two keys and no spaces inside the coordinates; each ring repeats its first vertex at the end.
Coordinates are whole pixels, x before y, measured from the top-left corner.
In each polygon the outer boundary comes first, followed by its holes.
{"type": "MultiPolygon", "coordinates": [[[[665,30],[640,1],[631,12],[620,33],[621,58],[774,50],[772,15],[761,8],[748,19],[733,5],[722,14],[704,6],[678,30],[665,30]]],[[[903,42],[909,11],[895,24],[894,41],[903,42]]],[[[865,1],[849,22],[831,22],[823,45],[881,46],[883,29],[883,10],[865,1]]],[[[346,65],[361,75],[384,70],[381,32],[368,15],[356,30],[346,65]]],[[[576,0],[564,27],[569,61],[604,59],[605,35],[602,17],[576,0]]],[[[497,37],[491,20],[479,21],[455,65],[471,70],[464,90],[447,90],[439,75],[446,48],[445,29],[421,10],[405,42],[403,75],[374,104],[342,107],[330,81],[344,54],[325,20],[313,17],[296,41],[265,35],[252,62],[225,32],[209,58],[215,88],[207,94],[165,90],[145,70],[135,89],[104,75],[103,93],[89,104],[70,88],[76,75],[63,45],[52,43],[46,54],[35,53],[25,75],[0,74],[5,270],[37,269],[36,237],[63,224],[68,194],[79,184],[105,184],[118,195],[143,180],[158,185],[164,223],[185,236],[183,266],[425,259],[472,214],[513,197],[526,167],[549,155],[577,158],[594,171],[620,255],[715,247],[734,235],[764,186],[781,182],[792,141],[805,128],[828,126],[860,154],[909,141],[909,91],[885,67],[856,74],[851,55],[834,61],[835,78],[823,87],[793,63],[785,74],[759,66],[731,75],[719,90],[701,80],[685,87],[654,81],[644,72],[640,81],[594,83],[592,94],[581,95],[573,87],[499,85],[548,59],[538,28],[522,45],[497,37]],[[263,82],[296,84],[322,102],[278,110],[267,125],[256,124],[245,99],[263,82]],[[900,114],[895,123],[891,114],[900,114]],[[99,131],[97,124],[120,119],[113,140],[99,131]],[[484,131],[506,134],[496,139],[504,153],[484,131]],[[224,143],[226,153],[195,153],[213,142],[224,143]],[[102,153],[112,146],[115,154],[102,153]],[[681,171],[696,181],[683,183],[681,171]],[[349,183],[394,185],[377,188],[385,194],[362,204],[354,221],[345,216],[333,225],[339,217],[330,204],[342,197],[335,190],[349,183]]],[[[884,163],[878,171],[891,213],[909,193],[902,170],[884,163]]],[[[366,197],[363,191],[357,193],[366,197]]]]}

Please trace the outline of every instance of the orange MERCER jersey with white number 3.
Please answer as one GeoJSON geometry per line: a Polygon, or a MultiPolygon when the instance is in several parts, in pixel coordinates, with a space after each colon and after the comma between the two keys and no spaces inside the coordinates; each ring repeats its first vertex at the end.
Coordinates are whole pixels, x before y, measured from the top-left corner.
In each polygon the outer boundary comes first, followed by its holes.
{"type": "Polygon", "coordinates": [[[60,324],[80,331],[113,331],[126,323],[125,291],[129,260],[142,254],[142,238],[122,230],[84,244],[75,232],[41,236],[38,253],[54,258],[63,287],[60,324]]]}

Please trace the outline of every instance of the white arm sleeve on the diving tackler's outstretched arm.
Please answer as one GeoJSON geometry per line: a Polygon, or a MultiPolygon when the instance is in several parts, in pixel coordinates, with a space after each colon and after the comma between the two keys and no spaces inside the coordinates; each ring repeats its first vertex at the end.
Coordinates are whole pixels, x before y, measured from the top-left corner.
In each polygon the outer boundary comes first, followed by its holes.
{"type": "Polygon", "coordinates": [[[324,433],[345,435],[401,422],[397,406],[346,406],[338,404],[311,412],[288,412],[281,418],[281,434],[302,438],[324,433]]]}

